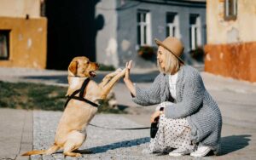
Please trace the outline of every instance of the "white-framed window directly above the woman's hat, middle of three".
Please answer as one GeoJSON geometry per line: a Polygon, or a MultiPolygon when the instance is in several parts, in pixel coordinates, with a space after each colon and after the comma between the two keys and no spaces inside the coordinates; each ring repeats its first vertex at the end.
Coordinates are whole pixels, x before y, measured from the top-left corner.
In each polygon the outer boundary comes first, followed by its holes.
{"type": "Polygon", "coordinates": [[[179,26],[177,13],[168,12],[166,14],[166,37],[179,38],[179,26]]]}

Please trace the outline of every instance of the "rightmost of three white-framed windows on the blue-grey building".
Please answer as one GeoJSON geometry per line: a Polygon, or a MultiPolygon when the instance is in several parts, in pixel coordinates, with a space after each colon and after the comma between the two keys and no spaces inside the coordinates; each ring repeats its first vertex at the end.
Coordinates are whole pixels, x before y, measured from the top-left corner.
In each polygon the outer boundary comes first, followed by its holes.
{"type": "Polygon", "coordinates": [[[198,14],[189,15],[189,40],[191,50],[201,46],[201,20],[198,14]]]}

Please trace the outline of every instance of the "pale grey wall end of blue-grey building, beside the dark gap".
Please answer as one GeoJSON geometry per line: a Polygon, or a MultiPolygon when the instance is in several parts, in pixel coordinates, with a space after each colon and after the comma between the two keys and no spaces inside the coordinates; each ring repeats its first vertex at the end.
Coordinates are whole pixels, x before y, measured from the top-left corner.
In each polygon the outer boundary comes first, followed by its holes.
{"type": "Polygon", "coordinates": [[[104,25],[96,34],[96,61],[118,67],[116,0],[97,3],[96,17],[99,16],[103,16],[104,25]]]}

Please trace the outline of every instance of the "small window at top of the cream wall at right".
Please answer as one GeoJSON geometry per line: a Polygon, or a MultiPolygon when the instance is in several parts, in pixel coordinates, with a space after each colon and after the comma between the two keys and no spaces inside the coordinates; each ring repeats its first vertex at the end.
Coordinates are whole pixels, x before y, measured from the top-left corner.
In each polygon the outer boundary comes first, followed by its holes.
{"type": "Polygon", "coordinates": [[[224,0],[224,20],[236,20],[237,0],[224,0]]]}

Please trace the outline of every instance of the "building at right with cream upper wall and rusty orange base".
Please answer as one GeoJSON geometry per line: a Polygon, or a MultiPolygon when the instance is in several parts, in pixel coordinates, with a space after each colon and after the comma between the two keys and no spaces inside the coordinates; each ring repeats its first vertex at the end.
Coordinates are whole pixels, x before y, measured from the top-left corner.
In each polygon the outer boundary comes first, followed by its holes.
{"type": "Polygon", "coordinates": [[[207,0],[205,71],[256,82],[256,1],[207,0]]]}

